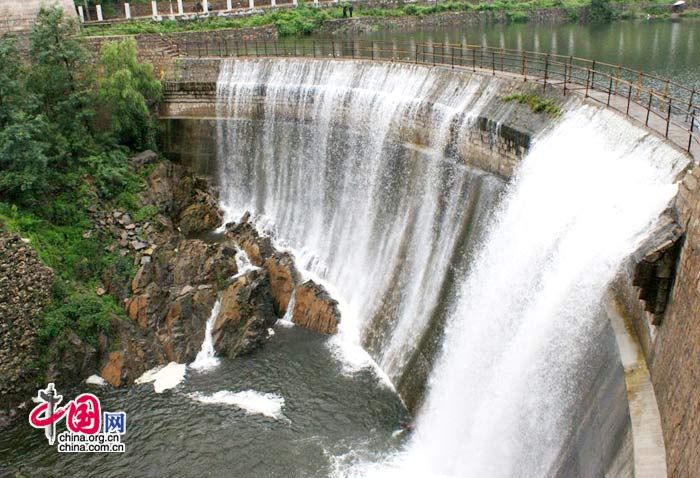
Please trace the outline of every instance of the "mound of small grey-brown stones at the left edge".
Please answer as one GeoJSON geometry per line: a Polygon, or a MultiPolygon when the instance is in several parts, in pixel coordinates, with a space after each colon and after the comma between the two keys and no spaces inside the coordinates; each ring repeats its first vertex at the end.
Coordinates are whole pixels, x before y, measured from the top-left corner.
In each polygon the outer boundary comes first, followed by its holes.
{"type": "Polygon", "coordinates": [[[53,272],[29,241],[0,224],[0,403],[24,400],[34,390],[40,353],[37,330],[49,303],[53,272]]]}

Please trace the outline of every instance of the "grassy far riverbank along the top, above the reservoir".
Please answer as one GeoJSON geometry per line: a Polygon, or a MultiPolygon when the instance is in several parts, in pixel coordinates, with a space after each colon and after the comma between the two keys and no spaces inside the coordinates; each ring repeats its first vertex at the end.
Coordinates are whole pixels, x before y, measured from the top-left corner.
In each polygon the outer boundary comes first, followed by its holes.
{"type": "MultiPolygon", "coordinates": [[[[342,5],[342,4],[341,4],[342,5]]],[[[444,2],[431,4],[357,5],[353,18],[343,17],[339,4],[299,7],[281,6],[252,10],[249,14],[200,17],[188,20],[165,19],[160,22],[137,20],[88,26],[84,36],[167,34],[213,30],[250,29],[274,26],[281,37],[312,33],[334,34],[362,32],[381,27],[450,25],[455,23],[602,23],[628,19],[670,19],[700,16],[690,2],[680,14],[672,14],[670,4],[653,2],[610,2],[608,0],[531,0],[527,2],[444,2]]]]}

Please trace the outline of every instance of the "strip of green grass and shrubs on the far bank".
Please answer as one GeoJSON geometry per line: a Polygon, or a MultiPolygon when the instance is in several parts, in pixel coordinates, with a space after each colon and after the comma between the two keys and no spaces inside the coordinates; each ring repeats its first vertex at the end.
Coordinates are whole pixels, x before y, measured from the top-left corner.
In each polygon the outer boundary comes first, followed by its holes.
{"type": "MultiPolygon", "coordinates": [[[[504,12],[511,23],[525,23],[530,20],[529,12],[537,9],[562,8],[568,11],[568,18],[576,21],[579,11],[586,9],[589,22],[607,22],[617,18],[635,18],[652,14],[670,14],[668,2],[652,0],[495,0],[493,2],[444,1],[429,4],[410,3],[397,7],[367,8],[357,5],[355,17],[399,18],[406,16],[426,16],[443,12],[504,12]],[[614,5],[628,5],[630,8],[620,14],[614,5]],[[635,7],[640,5],[639,7],[635,7]]],[[[692,14],[689,12],[688,14],[692,14]]],[[[136,35],[141,33],[173,33],[186,31],[210,31],[235,28],[249,28],[274,25],[281,36],[307,35],[318,31],[332,19],[342,18],[342,6],[313,7],[299,2],[296,8],[265,10],[263,13],[245,17],[202,18],[199,20],[132,21],[114,23],[108,26],[92,26],[83,30],[87,36],[95,35],[136,35]]]]}

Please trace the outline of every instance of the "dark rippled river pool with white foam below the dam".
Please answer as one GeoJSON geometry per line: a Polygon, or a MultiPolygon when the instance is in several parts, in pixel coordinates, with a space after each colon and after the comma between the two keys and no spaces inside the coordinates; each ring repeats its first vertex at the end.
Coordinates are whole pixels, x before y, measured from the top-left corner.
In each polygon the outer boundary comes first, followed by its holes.
{"type": "Polygon", "coordinates": [[[126,412],[126,452],[57,453],[21,423],[0,436],[0,463],[26,477],[320,477],[343,457],[395,451],[405,437],[392,435],[410,420],[401,401],[373,369],[344,372],[327,340],[280,323],[258,352],[188,369],[161,394],[151,384],[59,388],[126,412]]]}

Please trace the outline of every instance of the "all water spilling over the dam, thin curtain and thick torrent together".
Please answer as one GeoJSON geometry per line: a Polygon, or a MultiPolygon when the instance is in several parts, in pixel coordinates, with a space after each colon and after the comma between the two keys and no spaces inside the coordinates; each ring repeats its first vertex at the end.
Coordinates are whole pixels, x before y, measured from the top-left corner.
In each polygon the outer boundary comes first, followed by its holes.
{"type": "Polygon", "coordinates": [[[394,383],[418,373],[424,338],[445,324],[404,451],[343,457],[339,475],[552,476],[606,287],[683,161],[580,106],[537,138],[506,188],[451,154],[493,81],[436,78],[360,62],[225,63],[222,199],[230,219],[250,210],[337,289],[340,339],[362,343],[394,383]],[[258,118],[239,115],[260,98],[258,118]],[[290,107],[305,120],[289,120],[290,107]],[[402,136],[411,121],[424,136],[402,136]]]}

